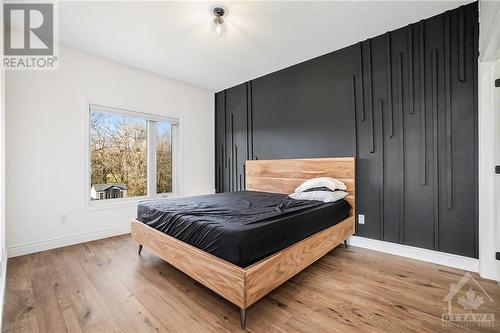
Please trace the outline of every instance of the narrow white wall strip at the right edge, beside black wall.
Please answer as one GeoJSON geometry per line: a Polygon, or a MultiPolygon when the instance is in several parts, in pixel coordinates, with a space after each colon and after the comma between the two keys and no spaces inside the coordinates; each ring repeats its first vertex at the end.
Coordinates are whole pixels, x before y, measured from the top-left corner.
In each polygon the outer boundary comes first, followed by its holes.
{"type": "Polygon", "coordinates": [[[500,281],[499,89],[494,87],[500,58],[500,2],[479,2],[479,274],[500,281]],[[496,62],[496,64],[495,64],[496,62]],[[497,95],[497,97],[495,97],[497,95]]]}

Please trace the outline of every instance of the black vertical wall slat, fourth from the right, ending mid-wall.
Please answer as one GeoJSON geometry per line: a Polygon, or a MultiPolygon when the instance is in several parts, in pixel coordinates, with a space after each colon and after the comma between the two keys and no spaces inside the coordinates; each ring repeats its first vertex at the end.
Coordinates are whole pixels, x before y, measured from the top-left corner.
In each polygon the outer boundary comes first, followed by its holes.
{"type": "Polygon", "coordinates": [[[425,42],[424,22],[419,29],[419,60],[420,60],[420,184],[427,184],[427,120],[425,110],[425,42]]]}

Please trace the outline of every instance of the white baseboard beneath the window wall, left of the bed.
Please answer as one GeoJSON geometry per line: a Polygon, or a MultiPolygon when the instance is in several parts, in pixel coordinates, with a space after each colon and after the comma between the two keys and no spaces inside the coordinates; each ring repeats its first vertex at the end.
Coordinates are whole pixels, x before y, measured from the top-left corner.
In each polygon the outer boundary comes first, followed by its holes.
{"type": "Polygon", "coordinates": [[[56,249],[58,247],[89,242],[97,239],[108,238],[130,233],[130,224],[104,230],[86,232],[76,235],[52,238],[44,241],[15,245],[8,248],[8,257],[18,257],[25,254],[56,249]]]}

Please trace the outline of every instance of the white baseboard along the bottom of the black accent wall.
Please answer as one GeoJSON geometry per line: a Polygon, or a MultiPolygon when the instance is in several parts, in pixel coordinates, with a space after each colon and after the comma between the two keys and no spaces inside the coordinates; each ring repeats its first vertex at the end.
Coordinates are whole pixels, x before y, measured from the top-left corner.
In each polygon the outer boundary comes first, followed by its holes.
{"type": "Polygon", "coordinates": [[[479,271],[479,260],[474,258],[462,257],[455,254],[421,249],[418,247],[389,243],[358,236],[352,236],[349,239],[349,243],[353,246],[359,246],[365,249],[427,261],[438,265],[459,268],[469,272],[477,273],[479,271]]]}

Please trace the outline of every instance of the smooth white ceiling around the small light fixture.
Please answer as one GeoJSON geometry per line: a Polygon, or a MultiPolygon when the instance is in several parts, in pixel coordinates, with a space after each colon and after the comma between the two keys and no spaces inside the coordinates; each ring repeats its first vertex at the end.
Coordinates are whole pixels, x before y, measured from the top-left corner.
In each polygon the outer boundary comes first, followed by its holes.
{"type": "Polygon", "coordinates": [[[470,1],[60,2],[61,44],[210,91],[470,1]],[[228,10],[222,37],[210,9],[228,10]]]}

